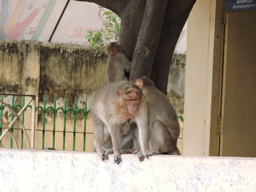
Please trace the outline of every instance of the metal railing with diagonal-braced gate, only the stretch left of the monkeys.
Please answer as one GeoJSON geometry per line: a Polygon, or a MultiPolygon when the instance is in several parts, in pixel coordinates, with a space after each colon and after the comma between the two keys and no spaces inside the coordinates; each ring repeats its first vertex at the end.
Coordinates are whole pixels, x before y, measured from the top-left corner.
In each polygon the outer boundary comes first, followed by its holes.
{"type": "MultiPolygon", "coordinates": [[[[33,96],[33,104],[30,105],[31,101],[26,100],[26,95],[15,95],[15,94],[4,94],[0,93],[0,144],[2,142],[2,139],[4,137],[7,137],[7,132],[10,134],[10,148],[13,147],[13,141],[15,141],[15,147],[17,148],[26,148],[24,147],[24,134],[27,135],[27,131],[31,131],[31,139],[29,145],[31,149],[34,149],[34,138],[39,137],[39,135],[42,134],[42,143],[41,146],[37,144],[37,149],[45,149],[45,141],[48,139],[52,139],[52,144],[50,147],[47,148],[56,148],[56,134],[61,133],[62,134],[62,147],[61,150],[66,150],[66,136],[67,134],[72,134],[72,150],[76,150],[75,148],[75,141],[77,134],[83,135],[83,151],[86,150],[86,135],[87,134],[93,134],[92,132],[86,131],[86,120],[87,116],[89,115],[89,110],[87,110],[87,103],[85,101],[83,109],[78,109],[77,106],[77,100],[75,99],[75,103],[73,107],[67,107],[67,99],[64,99],[64,107],[56,107],[56,99],[53,100],[53,106],[47,107],[46,106],[46,99],[43,99],[42,105],[35,106],[35,96],[33,96]],[[4,101],[4,96],[11,96],[10,103],[8,104],[6,101],[4,101]],[[15,101],[17,100],[17,97],[21,97],[21,104],[16,104],[15,101]],[[31,127],[27,128],[24,126],[25,123],[25,114],[27,109],[31,109],[31,127]],[[21,110],[20,110],[21,109],[21,110]],[[17,112],[19,110],[19,112],[17,112]],[[5,117],[4,119],[4,113],[7,113],[11,115],[7,115],[8,117],[5,117]],[[62,115],[61,120],[63,122],[63,126],[60,130],[60,128],[56,129],[56,119],[57,115],[62,115]],[[49,126],[49,123],[47,124],[46,121],[48,120],[48,117],[53,121],[52,126],[49,126]],[[82,116],[82,117],[81,117],[82,116]],[[35,117],[37,117],[37,126],[35,128],[35,117]],[[8,119],[9,118],[9,119],[8,119]],[[67,118],[72,118],[72,131],[67,130],[67,118]],[[83,131],[77,130],[77,122],[79,120],[83,120],[83,131]],[[19,126],[15,126],[15,122],[19,121],[19,126]],[[47,125],[46,125],[47,124],[47,125]],[[21,128],[20,128],[21,125],[21,128]],[[13,132],[16,131],[16,137],[20,139],[20,146],[18,147],[17,138],[15,138],[15,135],[13,132]],[[46,138],[46,133],[51,133],[51,138],[46,138]],[[39,146],[39,147],[38,147],[39,146]]],[[[18,99],[20,100],[20,99],[18,99]]],[[[26,136],[27,137],[27,136],[26,136]]],[[[8,138],[7,138],[8,139],[8,138]]],[[[29,140],[29,138],[27,137],[29,140]]]]}

